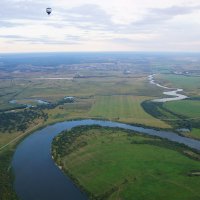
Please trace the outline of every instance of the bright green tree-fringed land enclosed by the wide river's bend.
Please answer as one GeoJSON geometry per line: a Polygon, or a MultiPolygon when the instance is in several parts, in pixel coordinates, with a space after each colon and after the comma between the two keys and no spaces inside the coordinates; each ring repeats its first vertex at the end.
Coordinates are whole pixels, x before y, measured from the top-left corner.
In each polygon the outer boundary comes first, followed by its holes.
{"type": "Polygon", "coordinates": [[[200,199],[200,155],[161,139],[80,127],[57,136],[52,153],[91,198],[200,199]]]}

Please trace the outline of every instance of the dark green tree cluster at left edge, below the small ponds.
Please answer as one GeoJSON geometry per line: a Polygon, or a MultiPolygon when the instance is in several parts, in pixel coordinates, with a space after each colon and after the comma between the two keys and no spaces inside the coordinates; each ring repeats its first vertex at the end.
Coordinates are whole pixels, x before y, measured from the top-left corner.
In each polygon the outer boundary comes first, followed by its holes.
{"type": "Polygon", "coordinates": [[[25,131],[35,119],[47,120],[48,115],[40,109],[31,108],[19,112],[0,113],[0,131],[25,131]]]}

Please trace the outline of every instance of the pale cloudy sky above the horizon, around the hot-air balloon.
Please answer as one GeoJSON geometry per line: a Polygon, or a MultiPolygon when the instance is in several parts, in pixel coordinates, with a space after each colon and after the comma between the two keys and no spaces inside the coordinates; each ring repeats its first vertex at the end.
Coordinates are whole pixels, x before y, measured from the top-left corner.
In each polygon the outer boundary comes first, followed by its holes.
{"type": "Polygon", "coordinates": [[[200,51],[198,0],[0,3],[0,53],[200,51]]]}

